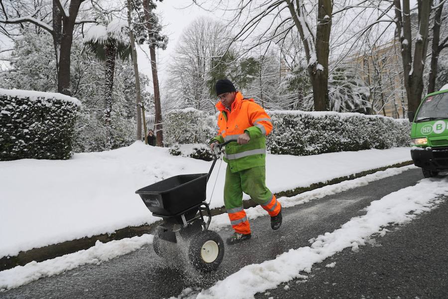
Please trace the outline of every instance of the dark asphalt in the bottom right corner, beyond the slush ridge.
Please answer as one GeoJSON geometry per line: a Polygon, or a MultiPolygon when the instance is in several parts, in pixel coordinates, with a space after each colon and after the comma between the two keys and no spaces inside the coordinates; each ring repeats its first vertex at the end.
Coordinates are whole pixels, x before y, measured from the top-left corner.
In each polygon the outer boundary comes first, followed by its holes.
{"type": "Polygon", "coordinates": [[[359,247],[358,252],[345,249],[306,274],[307,278],[255,298],[447,299],[447,200],[431,213],[359,247]]]}

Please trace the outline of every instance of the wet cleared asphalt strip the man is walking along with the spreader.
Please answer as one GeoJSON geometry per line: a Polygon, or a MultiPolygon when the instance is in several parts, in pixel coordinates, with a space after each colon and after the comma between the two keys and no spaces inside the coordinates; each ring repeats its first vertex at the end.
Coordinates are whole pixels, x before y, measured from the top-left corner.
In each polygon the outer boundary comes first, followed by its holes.
{"type": "MultiPolygon", "coordinates": [[[[83,266],[0,293],[0,297],[48,298],[51,293],[54,298],[164,298],[178,296],[186,288],[208,288],[245,265],[274,259],[290,248],[309,246],[310,238],[334,231],[352,217],[364,214],[362,209],[371,201],[414,185],[421,178],[420,169],[411,169],[367,186],[285,209],[285,222],[279,231],[270,230],[268,217],[254,219],[251,221],[253,238],[227,246],[219,271],[209,276],[173,269],[151,247],[145,247],[99,266],[83,266]]],[[[226,238],[230,231],[220,234],[226,238]]]]}

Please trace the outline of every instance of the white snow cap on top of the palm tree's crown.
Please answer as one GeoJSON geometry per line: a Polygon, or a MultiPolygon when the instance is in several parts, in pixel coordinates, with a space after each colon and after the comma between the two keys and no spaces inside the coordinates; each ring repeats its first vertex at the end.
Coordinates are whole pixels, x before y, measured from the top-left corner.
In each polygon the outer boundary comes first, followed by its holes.
{"type": "Polygon", "coordinates": [[[121,19],[114,19],[107,26],[94,25],[87,31],[87,34],[84,37],[84,42],[104,42],[108,38],[125,41],[128,34],[127,26],[127,22],[124,22],[121,19]]]}

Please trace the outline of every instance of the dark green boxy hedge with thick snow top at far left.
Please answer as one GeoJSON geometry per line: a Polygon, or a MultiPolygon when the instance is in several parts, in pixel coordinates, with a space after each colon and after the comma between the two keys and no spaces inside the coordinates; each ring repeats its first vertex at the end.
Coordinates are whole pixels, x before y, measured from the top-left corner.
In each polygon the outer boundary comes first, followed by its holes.
{"type": "Polygon", "coordinates": [[[0,89],[0,160],[70,158],[80,107],[59,93],[0,89]]]}

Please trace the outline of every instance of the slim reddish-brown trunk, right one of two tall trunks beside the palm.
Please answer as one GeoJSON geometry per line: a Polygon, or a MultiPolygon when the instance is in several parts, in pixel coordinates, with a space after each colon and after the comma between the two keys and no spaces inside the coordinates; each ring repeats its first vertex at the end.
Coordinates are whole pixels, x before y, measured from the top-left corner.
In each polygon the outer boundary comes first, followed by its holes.
{"type": "MultiPolygon", "coordinates": [[[[149,39],[152,40],[153,32],[152,32],[151,18],[149,16],[148,0],[143,0],[143,10],[145,11],[145,21],[146,21],[146,28],[148,29],[149,39]]],[[[154,84],[155,130],[157,136],[157,146],[163,147],[162,109],[160,105],[159,79],[157,76],[157,61],[156,61],[154,42],[151,42],[149,45],[149,54],[151,57],[152,82],[154,84]]]]}

